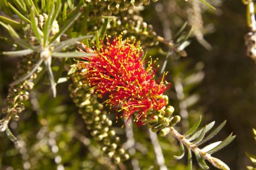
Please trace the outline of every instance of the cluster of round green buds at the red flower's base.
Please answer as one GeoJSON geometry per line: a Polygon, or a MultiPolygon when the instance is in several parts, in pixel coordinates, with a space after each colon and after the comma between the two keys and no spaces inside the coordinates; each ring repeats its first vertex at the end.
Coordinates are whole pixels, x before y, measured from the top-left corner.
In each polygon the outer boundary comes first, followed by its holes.
{"type": "MultiPolygon", "coordinates": [[[[168,103],[168,96],[161,95],[168,103]]],[[[166,136],[170,132],[170,127],[180,122],[180,116],[172,116],[174,108],[171,105],[164,106],[161,110],[153,111],[147,115],[144,123],[148,124],[152,132],[158,132],[160,136],[166,136]]]]}

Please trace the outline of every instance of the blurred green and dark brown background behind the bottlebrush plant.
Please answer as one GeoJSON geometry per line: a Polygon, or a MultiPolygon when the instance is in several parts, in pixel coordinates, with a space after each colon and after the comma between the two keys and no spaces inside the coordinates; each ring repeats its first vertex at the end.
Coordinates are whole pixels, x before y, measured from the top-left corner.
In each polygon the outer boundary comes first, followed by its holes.
{"type": "MultiPolygon", "coordinates": [[[[251,132],[256,126],[256,72],[255,63],[246,56],[244,44],[244,36],[249,31],[246,7],[241,1],[212,0],[209,3],[216,7],[214,11],[200,3],[201,23],[198,17],[192,17],[191,12],[196,9],[193,3],[161,0],[140,9],[143,20],[152,24],[154,31],[166,39],[174,40],[174,35],[185,22],[188,25],[184,32],[189,32],[193,26],[189,38],[191,44],[186,48],[187,57],[170,52],[164,44],[146,47],[146,50],[154,58],[159,58],[159,73],[168,56],[165,71],[169,74],[166,80],[172,86],[166,95],[176,109],[175,114],[181,115],[179,130],[185,132],[199,115],[203,115],[203,124],[213,120],[220,124],[227,120],[214,141],[223,140],[230,132],[236,134],[236,139],[216,153],[216,157],[229,165],[230,169],[245,169],[251,164],[245,152],[256,153],[251,132]],[[200,34],[204,34],[207,42],[200,34]]],[[[107,31],[107,34],[113,32],[107,31]]],[[[1,51],[11,50],[11,45],[2,39],[6,35],[7,31],[0,27],[1,51]]],[[[7,95],[9,83],[13,81],[18,60],[0,57],[0,106],[7,95]]],[[[58,62],[56,60],[54,64],[58,65],[58,62]]],[[[22,147],[16,148],[4,133],[0,133],[0,169],[118,169],[102,157],[100,147],[86,130],[69,98],[69,83],[57,85],[57,97],[53,98],[46,80],[45,76],[36,83],[20,120],[10,124],[22,147]]],[[[114,116],[112,119],[115,122],[114,116]]],[[[123,122],[119,121],[113,126],[125,143],[127,137],[121,124],[123,122]]],[[[134,156],[131,155],[131,160],[137,159],[141,169],[159,169],[147,128],[133,128],[133,133],[136,152],[134,156]]],[[[171,136],[158,140],[166,167],[185,169],[186,160],[173,159],[174,155],[179,154],[177,141],[171,136]]],[[[133,169],[131,161],[124,164],[127,169],[133,169]]]]}

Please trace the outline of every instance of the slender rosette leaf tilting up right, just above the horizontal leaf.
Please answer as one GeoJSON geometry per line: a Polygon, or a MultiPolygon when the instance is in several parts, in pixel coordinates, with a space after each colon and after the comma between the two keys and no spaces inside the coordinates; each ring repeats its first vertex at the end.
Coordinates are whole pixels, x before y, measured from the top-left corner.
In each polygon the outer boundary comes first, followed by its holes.
{"type": "Polygon", "coordinates": [[[77,44],[77,42],[79,42],[80,40],[84,40],[84,39],[92,38],[92,37],[93,37],[92,35],[80,36],[80,37],[77,37],[77,38],[71,38],[69,40],[59,42],[57,44],[53,44],[53,47],[55,47],[53,52],[59,52],[60,50],[63,50],[63,48],[65,48],[67,46],[70,47],[70,46],[73,46],[74,44],[77,44]]]}

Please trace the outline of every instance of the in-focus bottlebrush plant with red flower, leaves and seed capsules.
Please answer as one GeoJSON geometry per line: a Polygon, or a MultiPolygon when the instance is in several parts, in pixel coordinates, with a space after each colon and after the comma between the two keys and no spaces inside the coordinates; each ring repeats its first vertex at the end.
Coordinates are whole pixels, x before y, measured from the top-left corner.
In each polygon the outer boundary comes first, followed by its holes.
{"type": "Polygon", "coordinates": [[[174,128],[181,117],[172,116],[174,108],[165,93],[170,83],[165,80],[166,73],[159,82],[156,81],[160,66],[155,66],[156,61],[144,54],[142,46],[148,48],[161,42],[181,56],[186,54],[179,48],[180,44],[158,36],[152,26],[138,19],[139,13],[133,9],[149,3],[150,0],[1,1],[9,17],[1,16],[0,24],[18,45],[16,51],[3,54],[21,56],[21,62],[3,103],[0,131],[6,132],[18,144],[9,130],[9,122],[12,118],[18,121],[18,115],[25,109],[23,101],[29,99],[36,75],[47,72],[55,97],[56,85],[63,81],[60,79],[63,71],[71,67],[68,76],[62,77],[64,81],[71,81],[69,95],[88,132],[98,142],[104,157],[113,164],[123,169],[129,155],[121,145],[108,113],[115,114],[119,120],[125,119],[123,127],[134,120],[138,128],[148,126],[160,136],[171,134],[177,138],[181,155],[175,158],[183,158],[187,148],[188,169],[192,169],[192,152],[202,169],[209,168],[205,160],[218,169],[229,169],[212,154],[232,142],[232,134],[223,141],[199,148],[214,137],[225,122],[209,134],[207,132],[213,128],[214,122],[197,130],[201,118],[185,134],[174,128]],[[137,17],[134,17],[135,13],[137,17]],[[10,19],[13,14],[20,19],[10,19]],[[106,33],[111,36],[104,43],[106,33]],[[123,38],[122,35],[132,37],[123,38]],[[137,40],[141,40],[141,44],[137,40]],[[53,58],[61,60],[55,74],[53,58]]]}

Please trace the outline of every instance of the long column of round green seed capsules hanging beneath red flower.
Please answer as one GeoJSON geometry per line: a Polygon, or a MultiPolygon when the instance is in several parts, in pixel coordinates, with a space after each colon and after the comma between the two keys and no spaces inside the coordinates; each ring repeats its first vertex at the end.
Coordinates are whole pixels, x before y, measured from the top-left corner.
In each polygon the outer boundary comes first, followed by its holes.
{"type": "Polygon", "coordinates": [[[107,112],[102,111],[103,105],[97,101],[96,95],[89,88],[75,76],[73,83],[69,85],[70,95],[79,108],[78,112],[82,115],[86,128],[90,130],[94,140],[102,146],[101,150],[106,158],[116,164],[126,161],[129,155],[119,146],[120,138],[111,128],[113,122],[107,117],[107,112]]]}

